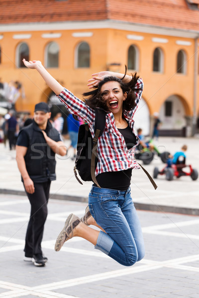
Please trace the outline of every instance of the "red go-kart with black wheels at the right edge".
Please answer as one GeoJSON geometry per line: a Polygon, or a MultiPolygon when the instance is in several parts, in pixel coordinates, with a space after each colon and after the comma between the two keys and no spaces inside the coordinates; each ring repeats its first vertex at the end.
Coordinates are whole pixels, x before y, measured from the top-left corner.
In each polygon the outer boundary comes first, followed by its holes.
{"type": "Polygon", "coordinates": [[[179,156],[175,164],[171,164],[169,167],[167,164],[161,171],[159,171],[158,167],[155,167],[153,170],[153,178],[157,178],[158,175],[165,175],[166,179],[171,181],[174,177],[190,176],[192,180],[197,180],[199,176],[197,169],[193,169],[191,165],[187,165],[185,163],[185,157],[183,157],[182,160],[180,160],[180,157],[182,156],[179,156]],[[183,171],[185,167],[189,168],[189,171],[183,171]]]}

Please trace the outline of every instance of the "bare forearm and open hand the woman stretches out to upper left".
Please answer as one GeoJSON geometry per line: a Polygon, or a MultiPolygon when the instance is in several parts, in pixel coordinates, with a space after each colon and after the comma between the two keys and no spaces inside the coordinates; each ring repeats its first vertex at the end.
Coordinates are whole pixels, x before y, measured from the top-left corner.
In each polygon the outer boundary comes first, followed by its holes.
{"type": "Polygon", "coordinates": [[[33,60],[28,62],[23,59],[23,63],[27,68],[37,70],[55,94],[59,95],[64,90],[64,87],[43,67],[41,61],[33,60]]]}

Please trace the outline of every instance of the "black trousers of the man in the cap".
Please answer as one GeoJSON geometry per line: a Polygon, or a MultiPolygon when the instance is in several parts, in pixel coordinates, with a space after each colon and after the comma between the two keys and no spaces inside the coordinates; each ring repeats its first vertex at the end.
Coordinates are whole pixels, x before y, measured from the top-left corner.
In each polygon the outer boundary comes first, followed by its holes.
{"type": "Polygon", "coordinates": [[[32,257],[33,254],[42,254],[41,241],[44,224],[48,215],[47,204],[50,192],[50,183],[34,183],[33,194],[26,192],[31,205],[30,220],[25,237],[25,255],[32,257]]]}

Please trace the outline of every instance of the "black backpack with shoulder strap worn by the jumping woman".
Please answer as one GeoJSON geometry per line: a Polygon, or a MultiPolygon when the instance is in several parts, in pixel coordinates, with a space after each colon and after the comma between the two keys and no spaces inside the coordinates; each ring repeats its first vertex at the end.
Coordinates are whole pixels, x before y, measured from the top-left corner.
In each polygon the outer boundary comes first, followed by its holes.
{"type": "Polygon", "coordinates": [[[78,133],[78,144],[77,144],[77,155],[74,166],[74,173],[77,180],[81,183],[82,181],[77,176],[77,171],[84,181],[93,181],[100,187],[96,180],[96,166],[98,163],[98,139],[103,133],[105,127],[105,115],[106,112],[100,108],[95,110],[95,137],[92,138],[89,125],[82,124],[79,128],[78,133]]]}

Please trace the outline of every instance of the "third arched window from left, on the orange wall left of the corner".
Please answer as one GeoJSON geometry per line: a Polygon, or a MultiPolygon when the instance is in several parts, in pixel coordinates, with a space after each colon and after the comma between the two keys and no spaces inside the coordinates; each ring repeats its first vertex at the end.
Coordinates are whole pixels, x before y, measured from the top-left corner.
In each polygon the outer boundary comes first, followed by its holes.
{"type": "Polygon", "coordinates": [[[76,67],[90,67],[90,46],[87,42],[82,42],[77,47],[76,67]]]}

